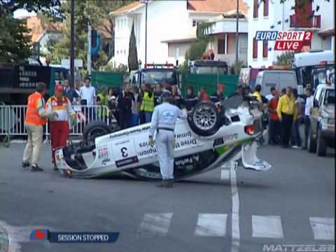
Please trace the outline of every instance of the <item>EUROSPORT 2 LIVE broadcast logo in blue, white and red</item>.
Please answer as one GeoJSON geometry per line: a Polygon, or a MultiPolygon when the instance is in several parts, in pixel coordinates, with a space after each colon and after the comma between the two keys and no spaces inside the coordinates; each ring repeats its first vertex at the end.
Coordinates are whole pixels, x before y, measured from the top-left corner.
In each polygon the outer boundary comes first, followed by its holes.
{"type": "Polygon", "coordinates": [[[313,31],[257,31],[255,41],[275,41],[274,50],[302,50],[310,45],[313,31]]]}

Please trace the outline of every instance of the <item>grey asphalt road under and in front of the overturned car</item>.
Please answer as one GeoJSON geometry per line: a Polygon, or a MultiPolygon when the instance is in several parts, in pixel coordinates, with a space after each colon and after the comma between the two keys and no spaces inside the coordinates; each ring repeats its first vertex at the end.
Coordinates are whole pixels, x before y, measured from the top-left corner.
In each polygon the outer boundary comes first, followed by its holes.
{"type": "Polygon", "coordinates": [[[51,169],[50,146],[41,158],[45,171],[32,173],[20,166],[23,148],[0,147],[0,252],[6,242],[10,252],[254,252],[335,244],[333,150],[319,158],[302,150],[260,147],[258,156],[273,167],[268,172],[238,167],[237,205],[233,174],[230,180],[229,170],[222,173],[221,167],[162,189],[127,179],[65,179],[51,169]],[[235,207],[238,218],[232,221],[235,207]],[[114,244],[50,244],[29,241],[34,228],[120,232],[120,237],[114,244]]]}

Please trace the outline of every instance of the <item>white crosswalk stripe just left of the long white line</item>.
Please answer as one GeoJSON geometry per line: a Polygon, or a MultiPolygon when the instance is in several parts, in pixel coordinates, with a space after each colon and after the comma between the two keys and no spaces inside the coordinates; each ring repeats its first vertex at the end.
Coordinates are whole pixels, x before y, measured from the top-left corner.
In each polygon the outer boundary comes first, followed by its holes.
{"type": "Polygon", "coordinates": [[[198,214],[195,235],[225,237],[228,214],[198,214]]]}

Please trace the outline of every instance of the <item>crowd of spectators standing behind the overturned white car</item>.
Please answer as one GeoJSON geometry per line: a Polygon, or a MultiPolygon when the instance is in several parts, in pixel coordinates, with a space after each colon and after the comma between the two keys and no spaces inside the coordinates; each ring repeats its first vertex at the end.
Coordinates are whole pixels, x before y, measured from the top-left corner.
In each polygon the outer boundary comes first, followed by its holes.
{"type": "Polygon", "coordinates": [[[73,104],[86,105],[88,116],[91,119],[114,120],[119,129],[126,129],[135,125],[150,123],[155,106],[161,104],[162,94],[169,92],[172,95],[172,104],[180,109],[190,111],[200,101],[221,102],[223,99],[234,95],[251,95],[263,104],[263,109],[268,115],[269,143],[281,144],[284,148],[307,147],[307,134],[309,132],[309,111],[312,106],[312,90],[306,89],[306,100],[297,95],[297,89],[291,87],[276,90],[271,87],[265,97],[261,94],[261,86],[256,85],[251,90],[247,85],[237,85],[235,93],[224,96],[225,86],[218,83],[216,92],[208,94],[205,87],[195,92],[193,86],[186,89],[186,95],[181,90],[169,83],[158,83],[154,87],[148,83],[142,83],[141,87],[131,87],[126,84],[123,90],[108,88],[102,85],[96,95],[95,88],[90,84],[90,78],[85,78],[84,84],[76,83],[74,88],[69,85],[69,80],[64,80],[64,95],[73,104]],[[302,108],[302,104],[306,104],[302,108]],[[109,118],[104,109],[91,109],[92,105],[101,105],[109,108],[109,118]],[[96,114],[97,113],[97,114],[96,114]],[[305,125],[305,143],[300,136],[300,123],[305,125]]]}

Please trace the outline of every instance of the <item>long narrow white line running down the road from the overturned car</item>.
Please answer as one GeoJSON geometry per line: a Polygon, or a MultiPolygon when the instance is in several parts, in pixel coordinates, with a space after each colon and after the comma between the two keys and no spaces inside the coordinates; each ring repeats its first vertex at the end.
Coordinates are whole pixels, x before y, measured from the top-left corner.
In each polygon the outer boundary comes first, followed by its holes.
{"type": "Polygon", "coordinates": [[[237,173],[236,173],[237,167],[238,167],[237,162],[230,162],[230,181],[231,181],[231,194],[232,194],[231,252],[239,252],[239,246],[240,246],[239,193],[237,187],[237,173]]]}

